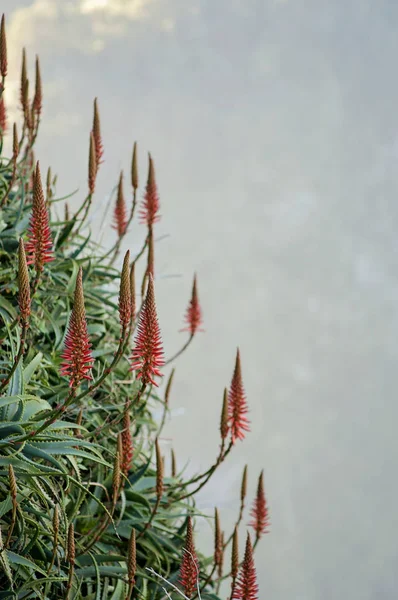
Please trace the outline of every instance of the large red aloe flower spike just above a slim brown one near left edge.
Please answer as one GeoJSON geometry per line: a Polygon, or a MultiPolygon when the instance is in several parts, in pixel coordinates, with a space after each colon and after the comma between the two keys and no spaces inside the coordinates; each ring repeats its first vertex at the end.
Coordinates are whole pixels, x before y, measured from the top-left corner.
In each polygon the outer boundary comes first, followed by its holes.
{"type": "Polygon", "coordinates": [[[53,242],[46,201],[41,183],[39,162],[33,177],[32,215],[26,243],[28,265],[34,265],[36,273],[40,273],[44,263],[54,260],[53,242]]]}

